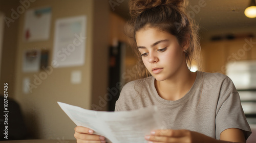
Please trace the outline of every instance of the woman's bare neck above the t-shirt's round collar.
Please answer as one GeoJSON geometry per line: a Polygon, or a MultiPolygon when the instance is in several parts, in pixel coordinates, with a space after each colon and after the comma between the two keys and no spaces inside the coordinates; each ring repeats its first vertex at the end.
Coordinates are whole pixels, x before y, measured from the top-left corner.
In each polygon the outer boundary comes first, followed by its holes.
{"type": "Polygon", "coordinates": [[[175,101],[185,96],[196,80],[196,73],[189,69],[177,73],[172,79],[155,80],[155,87],[159,96],[165,100],[175,101]]]}

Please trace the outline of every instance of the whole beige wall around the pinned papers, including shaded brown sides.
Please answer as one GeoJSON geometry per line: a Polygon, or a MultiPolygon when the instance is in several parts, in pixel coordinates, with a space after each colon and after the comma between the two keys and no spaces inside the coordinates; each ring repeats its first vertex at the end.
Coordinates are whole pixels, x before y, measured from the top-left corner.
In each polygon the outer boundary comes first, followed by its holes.
{"type": "MultiPolygon", "coordinates": [[[[18,2],[18,1],[17,1],[18,2]]],[[[11,9],[20,4],[8,3],[7,15],[11,9]]],[[[75,124],[60,109],[57,101],[91,109],[93,103],[98,104],[99,96],[104,96],[108,83],[108,42],[109,42],[109,3],[108,1],[93,0],[37,0],[31,3],[29,9],[52,8],[50,39],[38,42],[23,41],[24,14],[5,28],[3,46],[2,82],[9,82],[10,97],[13,97],[22,108],[26,125],[33,138],[41,139],[74,139],[75,124]],[[49,64],[52,61],[54,26],[58,18],[86,15],[86,59],[82,66],[53,68],[45,80],[31,93],[23,92],[24,78],[30,78],[34,84],[35,77],[39,77],[43,70],[36,73],[23,73],[23,52],[30,49],[49,50],[49,64]],[[80,84],[71,84],[71,72],[80,70],[82,79],[80,84]],[[92,80],[93,79],[93,80],[92,80]],[[14,85],[15,84],[15,85],[14,85]],[[93,98],[92,98],[93,97],[93,98]],[[93,100],[94,99],[94,100],[93,100]]],[[[35,84],[34,84],[35,85],[35,84]]],[[[2,91],[2,88],[1,88],[2,91]]],[[[106,110],[107,106],[101,110],[106,110]]]]}

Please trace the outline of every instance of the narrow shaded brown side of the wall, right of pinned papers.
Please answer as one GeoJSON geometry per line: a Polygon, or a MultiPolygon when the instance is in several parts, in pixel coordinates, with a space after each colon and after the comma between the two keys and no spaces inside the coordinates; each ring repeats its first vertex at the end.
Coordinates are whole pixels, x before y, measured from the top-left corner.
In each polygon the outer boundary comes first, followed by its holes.
{"type": "Polygon", "coordinates": [[[108,102],[104,96],[108,92],[110,7],[108,1],[103,1],[94,1],[91,109],[107,111],[108,102]],[[100,99],[104,99],[104,103],[100,99]]]}

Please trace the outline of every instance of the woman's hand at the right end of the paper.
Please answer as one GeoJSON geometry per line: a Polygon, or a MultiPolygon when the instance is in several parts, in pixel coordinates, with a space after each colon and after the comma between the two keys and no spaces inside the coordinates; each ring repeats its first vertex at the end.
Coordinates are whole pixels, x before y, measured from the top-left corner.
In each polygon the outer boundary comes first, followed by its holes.
{"type": "Polygon", "coordinates": [[[200,142],[195,140],[196,136],[200,133],[192,132],[189,130],[154,130],[151,135],[146,135],[145,139],[148,142],[200,142]]]}

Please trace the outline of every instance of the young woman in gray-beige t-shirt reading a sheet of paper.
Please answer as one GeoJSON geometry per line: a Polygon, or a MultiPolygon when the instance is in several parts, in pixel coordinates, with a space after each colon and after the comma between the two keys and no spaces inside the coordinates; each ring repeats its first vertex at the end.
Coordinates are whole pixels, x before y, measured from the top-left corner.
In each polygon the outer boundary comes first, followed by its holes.
{"type": "MultiPolygon", "coordinates": [[[[246,142],[251,133],[232,81],[218,73],[189,70],[200,44],[197,27],[182,0],[132,0],[129,31],[140,55],[138,74],[127,83],[116,111],[156,105],[165,130],[148,142],[246,142]]],[[[105,142],[103,136],[75,128],[77,142],[105,142]]]]}

